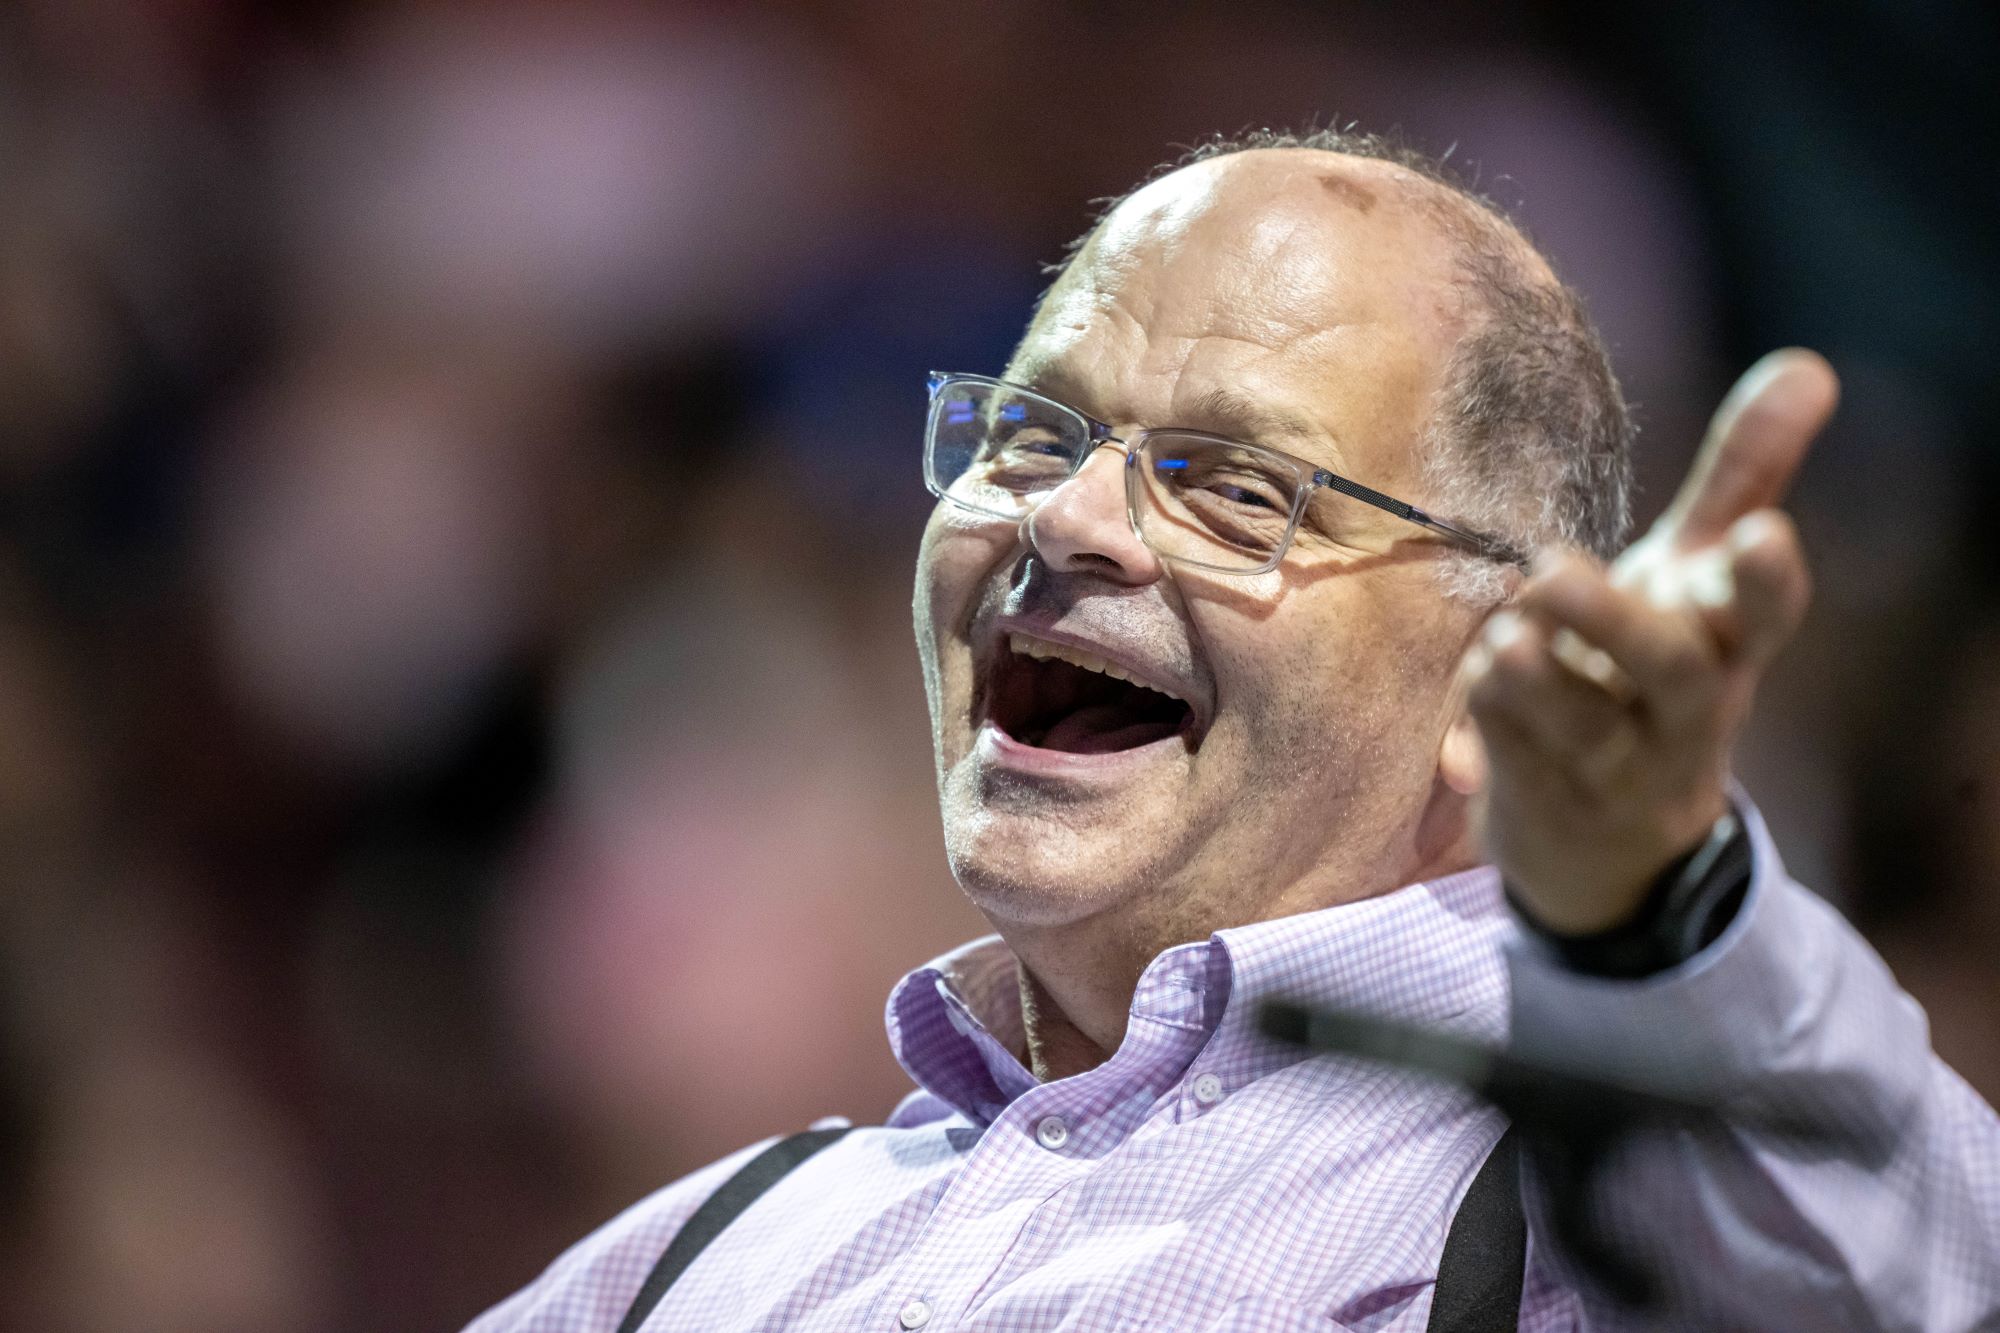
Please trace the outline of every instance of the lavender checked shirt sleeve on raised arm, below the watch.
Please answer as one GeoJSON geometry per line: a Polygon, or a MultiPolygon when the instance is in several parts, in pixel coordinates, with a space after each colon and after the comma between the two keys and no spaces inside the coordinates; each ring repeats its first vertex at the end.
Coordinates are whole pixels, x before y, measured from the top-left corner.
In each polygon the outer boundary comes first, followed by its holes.
{"type": "MultiPolygon", "coordinates": [[[[2000,1117],[1930,1051],[1924,1011],[1824,901],[1792,883],[1740,803],[1752,879],[1736,919],[1640,981],[1508,943],[1520,1055],[1806,1117],[1844,1143],[1662,1131],[1594,1195],[1606,1231],[1668,1281],[1670,1327],[2000,1327],[2000,1117]]],[[[1530,1187],[1536,1263],[1564,1259],[1530,1187]]],[[[1586,1327],[1662,1327],[1584,1291],[1586,1327]]]]}

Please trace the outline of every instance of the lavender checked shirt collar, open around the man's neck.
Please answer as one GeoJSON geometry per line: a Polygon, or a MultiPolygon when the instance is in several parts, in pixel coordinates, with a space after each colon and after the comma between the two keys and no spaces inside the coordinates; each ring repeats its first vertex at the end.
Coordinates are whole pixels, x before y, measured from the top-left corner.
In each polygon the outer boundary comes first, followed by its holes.
{"type": "MultiPolygon", "coordinates": [[[[1160,1023],[1206,1039],[1204,1067],[1254,1079],[1302,1059],[1256,1035],[1266,999],[1298,999],[1478,1039],[1506,1035],[1512,929],[1500,875],[1478,867],[1358,903],[1258,921],[1168,949],[1140,975],[1128,1031],[1160,1023]]],[[[974,1123],[1036,1085],[1022,1063],[1020,963],[998,935],[906,975],[888,999],[904,1071],[974,1123]]]]}

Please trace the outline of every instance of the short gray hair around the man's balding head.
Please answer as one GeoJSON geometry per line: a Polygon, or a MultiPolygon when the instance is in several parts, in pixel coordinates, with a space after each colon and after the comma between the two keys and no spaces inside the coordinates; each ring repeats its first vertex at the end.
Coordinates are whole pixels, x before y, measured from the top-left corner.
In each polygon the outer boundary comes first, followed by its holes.
{"type": "MultiPolygon", "coordinates": [[[[1442,158],[1352,126],[1218,134],[1164,162],[1126,194],[1100,200],[1092,228],[1054,268],[1066,268],[1096,226],[1144,184],[1254,148],[1372,158],[1428,186],[1422,202],[1456,248],[1472,318],[1418,442],[1426,488],[1420,502],[1524,552],[1568,544],[1606,560],[1614,556],[1632,520],[1636,428],[1604,338],[1582,298],[1536,270],[1530,260],[1536,250],[1522,228],[1442,158]]],[[[1440,574],[1448,592],[1474,602],[1496,602],[1508,588],[1504,564],[1470,552],[1454,552],[1440,574]]]]}

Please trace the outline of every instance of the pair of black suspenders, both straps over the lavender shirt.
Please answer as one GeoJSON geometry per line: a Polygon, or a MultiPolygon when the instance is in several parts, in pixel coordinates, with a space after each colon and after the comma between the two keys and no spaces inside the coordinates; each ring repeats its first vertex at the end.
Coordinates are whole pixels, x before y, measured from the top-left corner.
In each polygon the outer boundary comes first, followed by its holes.
{"type": "MultiPolygon", "coordinates": [[[[722,1235],[764,1191],[794,1167],[832,1145],[846,1129],[814,1129],[780,1139],[722,1183],[680,1227],[632,1299],[618,1333],[638,1333],[666,1289],[688,1271],[694,1257],[722,1235]]],[[[1438,1285],[1430,1297],[1428,1333],[1514,1333],[1520,1323],[1520,1285],[1528,1267],[1528,1223],[1520,1211],[1520,1149],[1514,1131],[1472,1177],[1452,1227],[1444,1235],[1438,1285]]]]}

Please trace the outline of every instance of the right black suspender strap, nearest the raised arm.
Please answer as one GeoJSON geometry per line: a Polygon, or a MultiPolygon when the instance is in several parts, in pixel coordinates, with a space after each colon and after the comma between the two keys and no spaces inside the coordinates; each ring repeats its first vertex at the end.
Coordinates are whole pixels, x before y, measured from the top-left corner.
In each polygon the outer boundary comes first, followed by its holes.
{"type": "Polygon", "coordinates": [[[1528,1269],[1528,1219],[1520,1211],[1520,1143],[1510,1127],[1472,1177],[1444,1233],[1430,1295],[1428,1333],[1514,1333],[1528,1269]]]}

